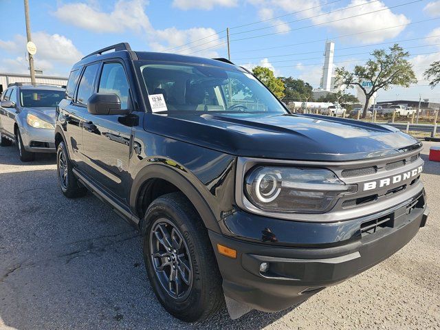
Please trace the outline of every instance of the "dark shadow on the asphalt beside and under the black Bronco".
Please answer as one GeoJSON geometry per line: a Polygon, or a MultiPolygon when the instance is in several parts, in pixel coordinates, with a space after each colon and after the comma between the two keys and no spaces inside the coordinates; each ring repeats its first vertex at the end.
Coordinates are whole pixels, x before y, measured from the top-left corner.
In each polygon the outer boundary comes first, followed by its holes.
{"type": "Polygon", "coordinates": [[[0,327],[261,329],[292,310],[181,322],[155,298],[139,232],[108,206],[65,198],[54,169],[0,177],[0,327]]]}

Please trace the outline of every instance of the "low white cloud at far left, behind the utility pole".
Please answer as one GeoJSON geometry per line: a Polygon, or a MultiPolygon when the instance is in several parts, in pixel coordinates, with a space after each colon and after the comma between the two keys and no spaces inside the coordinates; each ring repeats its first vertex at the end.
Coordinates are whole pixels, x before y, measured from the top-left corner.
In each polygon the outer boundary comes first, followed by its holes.
{"type": "MultiPolygon", "coordinates": [[[[60,34],[34,32],[32,41],[36,44],[35,67],[45,73],[52,72],[55,67],[72,66],[83,56],[72,40],[60,34]]],[[[21,34],[15,35],[10,41],[0,40],[3,54],[13,56],[1,60],[2,71],[28,72],[28,62],[23,57],[26,54],[26,42],[27,39],[21,34]]]]}

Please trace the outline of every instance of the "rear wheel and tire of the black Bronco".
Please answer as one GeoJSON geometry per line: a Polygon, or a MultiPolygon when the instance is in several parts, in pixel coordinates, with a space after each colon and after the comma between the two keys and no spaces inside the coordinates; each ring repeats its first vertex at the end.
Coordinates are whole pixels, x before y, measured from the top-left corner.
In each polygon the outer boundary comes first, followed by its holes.
{"type": "Polygon", "coordinates": [[[73,172],[73,165],[69,159],[64,142],[58,144],[56,149],[56,173],[63,195],[67,198],[83,197],[87,194],[87,188],[80,186],[73,172]]]}

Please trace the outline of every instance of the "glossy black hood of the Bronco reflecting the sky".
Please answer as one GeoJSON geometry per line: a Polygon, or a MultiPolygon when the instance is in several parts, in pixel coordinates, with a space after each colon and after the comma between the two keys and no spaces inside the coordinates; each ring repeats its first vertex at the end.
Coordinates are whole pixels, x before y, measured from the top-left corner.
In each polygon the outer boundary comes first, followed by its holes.
{"type": "Polygon", "coordinates": [[[147,114],[146,131],[245,157],[347,161],[419,148],[414,137],[380,126],[322,115],[147,114]]]}

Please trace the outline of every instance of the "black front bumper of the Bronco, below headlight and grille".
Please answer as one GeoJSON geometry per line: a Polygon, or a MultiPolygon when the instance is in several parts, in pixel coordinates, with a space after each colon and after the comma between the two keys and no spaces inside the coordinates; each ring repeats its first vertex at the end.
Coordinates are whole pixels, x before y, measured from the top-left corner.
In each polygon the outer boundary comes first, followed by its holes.
{"type": "MultiPolygon", "coordinates": [[[[242,219],[252,217],[255,225],[261,222],[257,218],[262,217],[241,213],[242,219]]],[[[281,227],[265,228],[259,239],[209,234],[225,296],[252,309],[274,312],[297,305],[321,289],[388,258],[417,234],[428,213],[422,191],[393,209],[374,214],[375,217],[340,221],[333,223],[333,227],[328,227],[328,223],[300,223],[298,227],[295,221],[273,219],[281,221],[285,229],[289,225],[298,228],[299,235],[287,230],[296,241],[278,241],[276,233],[281,227]],[[219,254],[217,243],[236,250],[236,259],[219,254]],[[263,262],[269,264],[269,269],[261,273],[259,267],[263,262]]],[[[228,221],[223,223],[227,224],[228,221]]]]}

